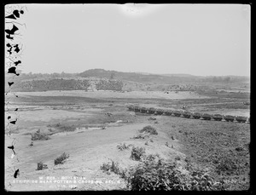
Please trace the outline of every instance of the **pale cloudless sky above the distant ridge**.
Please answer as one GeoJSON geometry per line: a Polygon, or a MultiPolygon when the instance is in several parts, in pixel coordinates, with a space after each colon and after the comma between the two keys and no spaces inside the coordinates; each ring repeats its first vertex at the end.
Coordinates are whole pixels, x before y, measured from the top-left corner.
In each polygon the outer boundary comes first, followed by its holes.
{"type": "Polygon", "coordinates": [[[25,11],[24,73],[250,75],[247,4],[26,4],[25,11]]]}

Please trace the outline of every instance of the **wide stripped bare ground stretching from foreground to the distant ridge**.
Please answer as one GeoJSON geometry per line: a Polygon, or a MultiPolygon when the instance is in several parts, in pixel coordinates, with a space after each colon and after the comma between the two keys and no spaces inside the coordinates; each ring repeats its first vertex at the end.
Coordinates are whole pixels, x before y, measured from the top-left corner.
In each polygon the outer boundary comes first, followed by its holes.
{"type": "Polygon", "coordinates": [[[121,168],[137,164],[130,158],[131,149],[117,149],[120,143],[143,146],[147,154],[158,153],[166,159],[178,157],[177,162],[183,166],[189,163],[207,169],[214,177],[223,178],[228,190],[247,190],[250,186],[249,123],[151,116],[129,112],[126,108],[128,103],[171,108],[186,104],[191,111],[248,116],[249,107],[242,105],[245,98],[219,100],[189,92],[50,91],[16,95],[19,98],[10,100],[10,105],[20,107],[18,115],[6,112],[6,117],[17,118],[15,125],[6,123],[5,129],[5,189],[8,191],[124,190],[125,181],[119,175],[108,175],[100,169],[110,159],[119,162],[121,168]],[[74,129],[60,131],[56,128],[58,123],[74,129]],[[154,142],[131,139],[147,125],[159,133],[150,135],[154,142]],[[30,146],[31,134],[38,129],[49,134],[49,140],[33,141],[30,146]],[[14,139],[15,156],[7,147],[14,139]],[[55,158],[63,152],[69,158],[55,165],[55,158]],[[39,162],[47,164],[48,169],[36,170],[39,162]],[[15,169],[20,169],[17,178],[14,178],[15,169]]]}

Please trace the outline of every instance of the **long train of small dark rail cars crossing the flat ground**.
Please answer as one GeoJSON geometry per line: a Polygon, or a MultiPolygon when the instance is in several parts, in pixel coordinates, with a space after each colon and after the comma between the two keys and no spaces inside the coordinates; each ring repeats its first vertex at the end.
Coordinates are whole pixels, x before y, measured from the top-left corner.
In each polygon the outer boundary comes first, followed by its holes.
{"type": "Polygon", "coordinates": [[[188,112],[188,111],[181,111],[181,110],[160,109],[160,108],[154,108],[154,107],[144,107],[144,106],[134,106],[134,105],[129,105],[127,106],[127,108],[129,111],[154,114],[154,115],[194,118],[194,119],[201,119],[201,120],[236,122],[236,123],[250,123],[250,118],[242,117],[242,116],[207,114],[207,113],[200,113],[200,112],[188,112]]]}

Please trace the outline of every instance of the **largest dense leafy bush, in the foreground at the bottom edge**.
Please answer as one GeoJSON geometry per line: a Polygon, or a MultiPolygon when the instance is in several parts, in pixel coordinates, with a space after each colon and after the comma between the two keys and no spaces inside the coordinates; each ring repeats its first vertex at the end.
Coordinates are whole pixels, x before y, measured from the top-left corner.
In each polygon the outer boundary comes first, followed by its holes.
{"type": "Polygon", "coordinates": [[[177,163],[166,163],[159,155],[148,155],[137,167],[123,171],[121,176],[132,191],[224,190],[224,181],[215,182],[201,169],[183,175],[177,169],[177,163]]]}

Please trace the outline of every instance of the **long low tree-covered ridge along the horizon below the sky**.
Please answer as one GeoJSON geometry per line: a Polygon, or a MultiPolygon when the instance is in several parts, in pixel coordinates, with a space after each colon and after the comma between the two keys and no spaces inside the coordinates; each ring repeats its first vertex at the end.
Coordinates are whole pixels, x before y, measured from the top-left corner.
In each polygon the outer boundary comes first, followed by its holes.
{"type": "Polygon", "coordinates": [[[14,82],[12,91],[44,90],[196,90],[193,83],[249,82],[248,77],[201,77],[189,74],[147,74],[145,72],[116,72],[104,69],[90,69],[81,73],[6,74],[5,91],[8,82],[14,82]]]}

